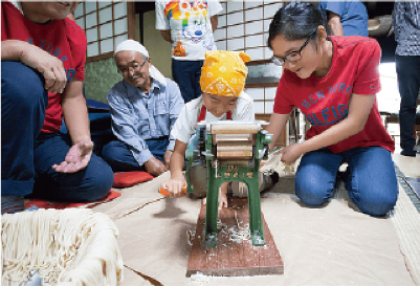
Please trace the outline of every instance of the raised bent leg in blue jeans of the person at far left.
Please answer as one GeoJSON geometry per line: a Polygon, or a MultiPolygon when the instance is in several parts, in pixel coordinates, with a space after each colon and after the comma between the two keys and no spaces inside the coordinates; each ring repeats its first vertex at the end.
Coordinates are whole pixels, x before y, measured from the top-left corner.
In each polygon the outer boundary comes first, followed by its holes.
{"type": "Polygon", "coordinates": [[[32,193],[35,140],[48,105],[43,85],[43,77],[33,69],[18,62],[1,62],[2,196],[32,193]]]}

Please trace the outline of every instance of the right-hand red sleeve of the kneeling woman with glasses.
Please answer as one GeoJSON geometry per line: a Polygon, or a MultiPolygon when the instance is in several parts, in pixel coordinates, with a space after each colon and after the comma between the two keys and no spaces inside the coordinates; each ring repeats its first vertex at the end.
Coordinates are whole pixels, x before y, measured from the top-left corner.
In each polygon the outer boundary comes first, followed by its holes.
{"type": "Polygon", "coordinates": [[[379,81],[379,63],[381,61],[381,48],[374,39],[366,41],[359,53],[359,66],[353,93],[376,94],[381,90],[379,81]]]}

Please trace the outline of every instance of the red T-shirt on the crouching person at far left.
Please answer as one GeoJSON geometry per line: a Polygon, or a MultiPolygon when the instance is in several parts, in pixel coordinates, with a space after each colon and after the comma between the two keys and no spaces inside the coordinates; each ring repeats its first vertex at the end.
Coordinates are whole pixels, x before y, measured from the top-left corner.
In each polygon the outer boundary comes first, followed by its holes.
{"type": "MultiPolygon", "coordinates": [[[[1,40],[26,41],[56,56],[63,62],[67,83],[73,78],[80,81],[85,79],[87,43],[85,32],[68,18],[47,24],[36,24],[26,19],[12,3],[2,2],[1,40]]],[[[61,94],[49,92],[48,107],[41,132],[59,131],[62,113],[61,94]]]]}

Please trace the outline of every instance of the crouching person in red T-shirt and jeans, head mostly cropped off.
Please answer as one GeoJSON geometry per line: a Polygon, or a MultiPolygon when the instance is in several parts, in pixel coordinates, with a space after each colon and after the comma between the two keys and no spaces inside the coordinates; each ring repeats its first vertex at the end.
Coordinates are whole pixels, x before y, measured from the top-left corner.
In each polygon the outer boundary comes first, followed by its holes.
{"type": "Polygon", "coordinates": [[[76,5],[1,3],[2,213],[22,210],[31,193],[98,200],[113,183],[111,168],[92,154],[82,89],[87,41],[66,19],[76,5]]]}

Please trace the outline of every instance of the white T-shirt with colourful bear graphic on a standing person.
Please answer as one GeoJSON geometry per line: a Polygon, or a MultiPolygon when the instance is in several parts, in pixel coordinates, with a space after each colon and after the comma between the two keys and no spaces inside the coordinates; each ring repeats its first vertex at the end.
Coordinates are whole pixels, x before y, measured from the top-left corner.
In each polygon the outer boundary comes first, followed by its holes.
{"type": "Polygon", "coordinates": [[[210,18],[222,9],[217,0],[156,1],[156,29],[171,30],[172,58],[204,60],[206,51],[216,50],[210,18]]]}

